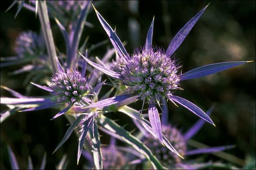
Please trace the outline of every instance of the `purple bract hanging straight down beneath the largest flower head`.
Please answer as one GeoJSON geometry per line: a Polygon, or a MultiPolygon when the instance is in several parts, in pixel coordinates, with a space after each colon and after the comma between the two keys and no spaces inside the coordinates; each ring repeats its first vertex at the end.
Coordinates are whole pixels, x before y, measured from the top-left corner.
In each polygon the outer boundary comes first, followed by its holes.
{"type": "Polygon", "coordinates": [[[161,121],[160,121],[159,113],[154,104],[149,104],[148,117],[149,117],[151,127],[155,132],[155,135],[157,136],[159,141],[162,143],[163,136],[162,136],[161,121]]]}

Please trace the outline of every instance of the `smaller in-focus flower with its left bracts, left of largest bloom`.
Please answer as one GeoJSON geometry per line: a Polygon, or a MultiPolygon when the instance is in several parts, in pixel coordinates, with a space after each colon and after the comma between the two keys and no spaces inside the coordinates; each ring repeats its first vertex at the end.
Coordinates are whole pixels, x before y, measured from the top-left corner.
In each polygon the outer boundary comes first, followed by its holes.
{"type": "Polygon", "coordinates": [[[89,91],[89,85],[84,74],[85,72],[83,71],[81,74],[81,72],[76,69],[69,70],[67,68],[66,72],[60,71],[59,73],[55,73],[55,76],[51,78],[52,81],[48,87],[32,83],[33,85],[50,92],[55,98],[54,102],[22,111],[32,111],[46,109],[56,105],[66,105],[64,110],[54,116],[53,119],[55,119],[67,112],[73,105],[80,106],[82,103],[88,104],[90,99],[87,98],[86,95],[92,91],[89,91]]]}

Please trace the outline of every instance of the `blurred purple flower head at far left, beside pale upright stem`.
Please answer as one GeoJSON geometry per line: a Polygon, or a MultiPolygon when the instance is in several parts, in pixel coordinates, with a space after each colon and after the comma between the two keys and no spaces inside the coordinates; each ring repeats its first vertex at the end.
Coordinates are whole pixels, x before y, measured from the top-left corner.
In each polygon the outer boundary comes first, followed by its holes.
{"type": "Polygon", "coordinates": [[[42,35],[33,31],[22,32],[16,39],[15,52],[20,58],[45,54],[46,48],[42,35]]]}

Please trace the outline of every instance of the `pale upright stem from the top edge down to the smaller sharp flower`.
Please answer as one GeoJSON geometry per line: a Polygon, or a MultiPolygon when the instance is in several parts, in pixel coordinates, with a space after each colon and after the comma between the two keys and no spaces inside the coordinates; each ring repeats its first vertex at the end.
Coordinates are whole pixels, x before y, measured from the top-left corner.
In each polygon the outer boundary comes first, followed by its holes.
{"type": "Polygon", "coordinates": [[[57,67],[57,55],[55,50],[55,44],[53,39],[53,34],[50,26],[49,16],[47,12],[47,6],[45,0],[38,1],[38,16],[41,23],[44,39],[46,42],[46,48],[49,55],[49,59],[52,65],[53,73],[58,72],[57,67]]]}

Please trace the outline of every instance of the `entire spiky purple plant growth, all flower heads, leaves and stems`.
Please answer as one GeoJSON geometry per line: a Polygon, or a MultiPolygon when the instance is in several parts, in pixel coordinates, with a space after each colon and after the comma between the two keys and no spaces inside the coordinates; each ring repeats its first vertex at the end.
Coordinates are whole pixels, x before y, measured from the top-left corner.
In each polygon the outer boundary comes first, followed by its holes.
{"type": "MultiPolygon", "coordinates": [[[[85,45],[79,46],[91,1],[62,0],[47,1],[47,3],[46,1],[31,1],[31,4],[27,4],[25,1],[15,1],[11,7],[15,3],[18,3],[18,12],[22,7],[25,7],[38,14],[43,34],[43,36],[37,35],[31,31],[20,34],[15,48],[18,58],[25,59],[26,56],[36,58],[40,61],[40,66],[51,69],[53,75],[51,78],[46,79],[45,85],[31,82],[38,88],[47,91],[47,96],[27,96],[8,87],[1,86],[1,88],[14,96],[1,97],[1,104],[9,107],[9,110],[1,113],[1,122],[17,111],[26,112],[57,108],[59,111],[53,119],[64,115],[69,120],[70,126],[54,153],[75,132],[78,137],[77,164],[83,149],[86,149],[87,157],[93,164],[92,168],[95,169],[121,169],[126,166],[127,161],[133,162],[131,164],[136,164],[134,163],[136,160],[132,161],[134,157],[126,157],[116,144],[102,147],[99,129],[128,144],[129,147],[122,149],[136,153],[136,157],[139,157],[137,159],[139,163],[148,160],[154,169],[173,167],[198,168],[199,166],[183,163],[183,157],[198,153],[222,151],[231,147],[219,146],[188,151],[186,147],[187,141],[202,127],[204,120],[212,125],[214,123],[210,119],[209,113],[205,113],[192,102],[174,95],[175,90],[183,90],[180,85],[183,80],[207,76],[248,62],[216,63],[182,73],[182,66],[177,63],[174,52],[189,34],[207,6],[183,26],[174,36],[166,51],[164,48],[152,45],[153,18],[146,36],[145,45],[140,49],[136,49],[132,55],[128,54],[115,31],[94,8],[117,53],[116,60],[111,63],[105,63],[112,55],[113,50],[107,51],[106,58],[103,58],[105,60],[101,61],[94,56],[88,55],[85,45]],[[55,24],[57,24],[63,35],[66,45],[64,57],[56,55],[54,37],[49,21],[50,17],[55,19],[55,24]],[[82,55],[78,50],[85,55],[82,55]],[[91,58],[98,59],[100,64],[92,62],[91,58]],[[48,63],[50,63],[49,66],[48,63]],[[101,76],[97,75],[99,72],[92,71],[92,69],[89,70],[87,63],[118,80],[119,84],[116,85],[115,81],[111,81],[112,84],[106,83],[106,80],[102,81],[101,76]],[[89,72],[86,72],[86,69],[89,72]],[[110,85],[112,88],[101,96],[100,92],[102,92],[103,85],[110,85]],[[121,94],[110,97],[114,90],[116,90],[116,94],[119,92],[121,94]],[[178,103],[184,106],[202,118],[202,120],[199,120],[187,133],[182,134],[180,130],[167,122],[168,109],[166,108],[166,99],[175,105],[178,103]],[[127,106],[137,100],[143,101],[140,111],[127,106]],[[148,114],[146,116],[142,114],[145,103],[148,104],[148,114]],[[160,108],[163,107],[162,122],[160,121],[158,106],[160,108]],[[106,113],[114,111],[123,112],[132,118],[144,137],[133,135],[132,132],[121,127],[117,122],[106,117],[106,113]],[[149,121],[146,119],[147,117],[149,121]]],[[[1,63],[1,67],[17,64],[20,61],[17,58],[13,60],[10,63],[1,63]]],[[[33,69],[38,68],[34,66],[32,64],[33,69]]],[[[27,70],[31,71],[33,69],[27,70]]],[[[22,71],[24,70],[26,69],[22,68],[22,71]]],[[[39,71],[41,70],[39,69],[39,71]]],[[[9,154],[12,168],[17,169],[18,163],[10,148],[9,154]]],[[[45,162],[45,159],[43,159],[43,162],[45,162]]],[[[61,161],[58,168],[62,168],[61,164],[63,164],[63,161],[61,161]]],[[[32,163],[29,163],[28,167],[32,169],[32,163]]]]}

